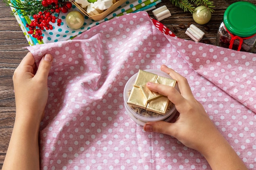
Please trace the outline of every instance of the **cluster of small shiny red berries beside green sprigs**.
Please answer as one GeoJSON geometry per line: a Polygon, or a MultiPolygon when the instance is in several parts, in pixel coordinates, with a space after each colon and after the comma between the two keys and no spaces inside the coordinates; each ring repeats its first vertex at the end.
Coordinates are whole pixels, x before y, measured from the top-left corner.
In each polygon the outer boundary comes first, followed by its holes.
{"type": "Polygon", "coordinates": [[[43,39],[42,30],[53,29],[50,22],[55,23],[57,20],[57,26],[61,26],[62,20],[52,14],[58,13],[59,15],[60,12],[67,13],[68,9],[72,7],[72,3],[63,1],[59,2],[59,0],[42,0],[42,6],[51,6],[51,8],[43,12],[40,11],[38,14],[34,14],[34,20],[31,20],[30,24],[26,24],[26,26],[29,28],[28,33],[40,41],[43,39]]]}

